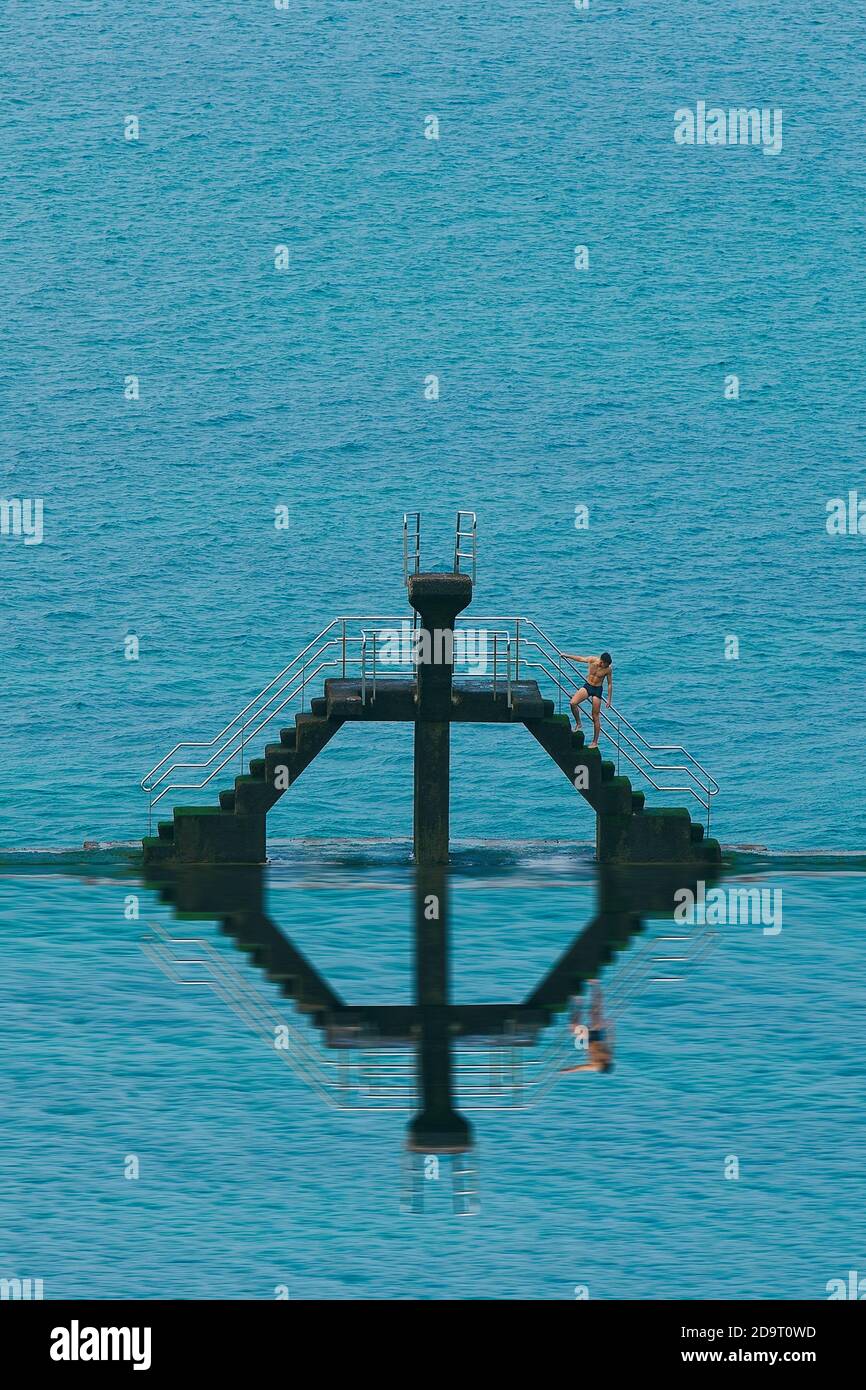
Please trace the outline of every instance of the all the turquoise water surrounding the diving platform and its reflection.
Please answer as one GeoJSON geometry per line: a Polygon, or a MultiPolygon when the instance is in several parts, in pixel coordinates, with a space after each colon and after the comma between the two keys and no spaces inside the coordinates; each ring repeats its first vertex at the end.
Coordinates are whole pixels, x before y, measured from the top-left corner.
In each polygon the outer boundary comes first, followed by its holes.
{"type": "MultiPolygon", "coordinates": [[[[460,1222],[445,1184],[400,1213],[403,1116],[332,1113],[165,980],[122,916],[136,891],[170,922],[153,890],[10,856],[135,841],[147,767],[334,614],[400,609],[403,510],[445,564],[457,506],[477,607],[609,646],[623,710],[721,784],[723,844],[862,851],[866,539],[824,523],[866,493],[865,39],[823,3],[4,10],[0,493],[44,499],[42,545],[0,538],[10,1273],[92,1297],[822,1297],[863,1268],[856,873],[776,870],[777,938],[726,935],[641,995],[613,1074],[484,1118],[460,1222]],[[781,107],[781,153],[676,146],[703,99],[781,107]]],[[[400,999],[410,734],[371,734],[275,808],[268,903],[346,988],[400,999]]],[[[509,998],[592,913],[591,813],[524,731],[459,728],[453,833],[455,990],[509,998]]]]}

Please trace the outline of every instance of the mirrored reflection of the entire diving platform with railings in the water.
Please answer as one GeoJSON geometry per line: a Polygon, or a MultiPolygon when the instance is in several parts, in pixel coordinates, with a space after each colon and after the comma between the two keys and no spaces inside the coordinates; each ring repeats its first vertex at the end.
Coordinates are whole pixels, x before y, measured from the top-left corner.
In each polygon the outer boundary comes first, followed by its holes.
{"type": "MultiPolygon", "coordinates": [[[[710,874],[712,878],[712,874],[710,874]]],[[[449,884],[446,869],[418,869],[414,885],[414,970],[410,1004],[346,1002],[316,965],[268,916],[263,870],[179,869],[152,878],[181,919],[214,919],[249,960],[291,999],[286,1017],[249,973],[232,966],[204,937],[152,927],[143,947],[178,984],[213,990],[267,1047],[328,1105],[345,1112],[386,1111],[413,1116],[406,1147],[413,1155],[466,1155],[474,1144],[467,1115],[525,1111],[544,1099],[575,1058],[577,1042],[562,1015],[605,977],[606,1009],[621,1008],[659,977],[676,941],[676,959],[696,959],[701,933],[638,938],[644,915],[670,916],[674,894],[695,880],[681,870],[607,870],[598,878],[591,920],[523,999],[457,1004],[450,998],[449,884]],[[617,956],[635,945],[620,965],[617,956]]],[[[356,945],[359,945],[356,942],[356,945]]],[[[471,1166],[455,1168],[455,1194],[471,1166]]],[[[470,1183],[471,1187],[471,1183],[470,1183]]],[[[456,1209],[457,1209],[457,1200],[456,1209]]]]}

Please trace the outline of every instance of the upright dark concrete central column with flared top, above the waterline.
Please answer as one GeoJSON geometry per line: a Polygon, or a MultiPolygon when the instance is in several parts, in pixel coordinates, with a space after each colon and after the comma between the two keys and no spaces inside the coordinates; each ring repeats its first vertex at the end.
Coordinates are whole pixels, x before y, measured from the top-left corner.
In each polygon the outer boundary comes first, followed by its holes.
{"type": "Polygon", "coordinates": [[[409,602],[421,619],[416,666],[414,852],[418,865],[448,863],[450,692],[455,619],[473,596],[468,574],[413,574],[409,602]]]}

